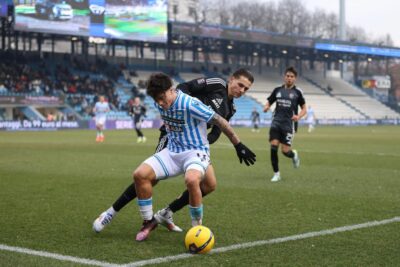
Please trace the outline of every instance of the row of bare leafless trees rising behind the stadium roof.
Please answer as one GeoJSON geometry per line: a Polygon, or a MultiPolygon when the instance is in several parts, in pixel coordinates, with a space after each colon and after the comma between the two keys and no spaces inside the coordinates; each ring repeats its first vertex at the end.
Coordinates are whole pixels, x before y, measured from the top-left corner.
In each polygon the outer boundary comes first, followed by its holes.
{"type": "MultiPolygon", "coordinates": [[[[339,37],[338,15],[322,9],[310,12],[302,0],[281,0],[277,4],[272,1],[199,0],[199,5],[203,14],[202,22],[208,24],[324,39],[339,37]]],[[[393,45],[390,35],[373,40],[359,27],[347,26],[347,39],[393,45]]]]}

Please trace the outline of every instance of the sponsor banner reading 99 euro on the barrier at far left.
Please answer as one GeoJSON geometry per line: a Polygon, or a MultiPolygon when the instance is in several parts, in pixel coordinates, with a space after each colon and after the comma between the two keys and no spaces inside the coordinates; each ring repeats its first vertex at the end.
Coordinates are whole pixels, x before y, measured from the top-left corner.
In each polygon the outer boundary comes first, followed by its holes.
{"type": "Polygon", "coordinates": [[[85,129],[87,127],[86,121],[0,121],[0,130],[8,131],[85,129]]]}

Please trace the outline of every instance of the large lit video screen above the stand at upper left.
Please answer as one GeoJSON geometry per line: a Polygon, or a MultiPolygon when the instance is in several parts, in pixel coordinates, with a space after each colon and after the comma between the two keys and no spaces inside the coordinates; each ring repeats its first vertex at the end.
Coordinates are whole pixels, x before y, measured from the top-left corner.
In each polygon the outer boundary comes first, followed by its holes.
{"type": "Polygon", "coordinates": [[[15,29],[167,41],[166,0],[15,0],[15,29]]]}

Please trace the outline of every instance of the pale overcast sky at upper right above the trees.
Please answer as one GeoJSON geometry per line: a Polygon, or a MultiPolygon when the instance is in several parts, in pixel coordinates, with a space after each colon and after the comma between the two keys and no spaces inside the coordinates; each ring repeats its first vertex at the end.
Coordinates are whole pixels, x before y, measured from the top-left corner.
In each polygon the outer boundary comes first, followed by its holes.
{"type": "MultiPolygon", "coordinates": [[[[265,2],[280,0],[261,0],[265,2]]],[[[308,10],[321,8],[339,14],[340,0],[301,0],[308,10]]],[[[395,46],[400,47],[399,0],[346,0],[346,23],[361,27],[373,38],[391,35],[395,46]]]]}

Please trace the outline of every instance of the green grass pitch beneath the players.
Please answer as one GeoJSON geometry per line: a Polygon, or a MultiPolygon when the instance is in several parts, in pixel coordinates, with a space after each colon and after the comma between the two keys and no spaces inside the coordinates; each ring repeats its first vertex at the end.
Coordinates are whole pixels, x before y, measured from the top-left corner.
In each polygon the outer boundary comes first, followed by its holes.
{"type": "MultiPolygon", "coordinates": [[[[223,137],[212,146],[217,190],[204,199],[204,225],[216,248],[400,216],[398,126],[300,128],[294,140],[301,167],[279,154],[283,180],[271,183],[268,132],[236,129],[257,154],[241,165],[223,137]]],[[[0,132],[0,245],[47,251],[115,264],[185,253],[185,233],[159,227],[138,243],[136,202],[100,234],[93,220],[132,181],[150,156],[157,130],[0,132]]],[[[154,189],[154,210],[184,190],[182,177],[154,189]]],[[[189,211],[174,216],[185,230],[189,211]]],[[[0,250],[1,266],[80,266],[0,250]]],[[[399,266],[400,223],[364,228],[226,253],[196,256],[157,266],[399,266]]],[[[83,266],[83,265],[82,265],[83,266]]]]}

